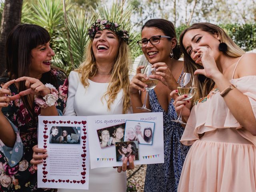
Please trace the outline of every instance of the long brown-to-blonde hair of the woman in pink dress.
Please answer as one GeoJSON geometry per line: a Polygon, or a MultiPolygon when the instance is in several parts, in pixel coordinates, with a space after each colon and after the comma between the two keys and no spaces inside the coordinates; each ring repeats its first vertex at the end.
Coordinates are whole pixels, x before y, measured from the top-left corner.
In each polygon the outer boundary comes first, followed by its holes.
{"type": "MultiPolygon", "coordinates": [[[[203,67],[200,66],[199,64],[196,64],[190,55],[187,53],[186,48],[183,45],[183,37],[188,32],[189,30],[192,29],[200,29],[202,31],[208,32],[210,34],[218,34],[220,37],[220,43],[224,42],[228,46],[228,50],[224,52],[229,57],[240,57],[242,56],[245,52],[235,44],[235,42],[226,34],[226,32],[211,23],[195,23],[192,26],[186,28],[181,34],[180,34],[180,47],[182,52],[184,53],[184,71],[187,73],[194,74],[195,70],[197,69],[202,69],[203,67]]],[[[214,87],[214,81],[210,78],[207,78],[203,75],[198,76],[199,83],[198,83],[198,91],[196,92],[193,100],[196,101],[201,97],[206,96],[210,90],[213,89],[214,87]]]]}

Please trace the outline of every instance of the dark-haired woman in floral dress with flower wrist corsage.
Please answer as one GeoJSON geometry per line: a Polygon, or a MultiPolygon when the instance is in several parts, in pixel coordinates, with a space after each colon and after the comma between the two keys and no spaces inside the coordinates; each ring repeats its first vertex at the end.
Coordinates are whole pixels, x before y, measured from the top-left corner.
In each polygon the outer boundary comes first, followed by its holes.
{"type": "Polygon", "coordinates": [[[32,24],[16,26],[7,39],[7,68],[0,77],[1,192],[56,190],[37,188],[30,164],[38,115],[61,114],[66,105],[68,79],[50,66],[54,52],[49,41],[49,33],[32,24]]]}

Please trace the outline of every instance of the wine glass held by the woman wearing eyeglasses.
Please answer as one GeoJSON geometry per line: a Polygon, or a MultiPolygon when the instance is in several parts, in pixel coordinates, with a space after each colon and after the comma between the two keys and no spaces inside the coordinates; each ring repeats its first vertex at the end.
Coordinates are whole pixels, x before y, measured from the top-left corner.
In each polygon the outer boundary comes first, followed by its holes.
{"type": "MultiPolygon", "coordinates": [[[[143,71],[143,74],[145,74],[147,77],[149,77],[150,75],[154,75],[156,73],[156,68],[152,68],[150,62],[148,62],[148,60],[145,59],[145,68],[143,71]]],[[[144,82],[145,84],[147,84],[148,86],[145,88],[146,89],[146,97],[144,100],[144,104],[142,107],[137,107],[137,109],[140,109],[142,111],[147,111],[147,112],[151,112],[150,109],[146,108],[146,101],[148,98],[148,91],[150,89],[154,89],[156,87],[156,84],[158,83],[158,80],[156,79],[152,79],[152,78],[148,78],[147,80],[142,78],[141,79],[142,82],[144,82]]]]}

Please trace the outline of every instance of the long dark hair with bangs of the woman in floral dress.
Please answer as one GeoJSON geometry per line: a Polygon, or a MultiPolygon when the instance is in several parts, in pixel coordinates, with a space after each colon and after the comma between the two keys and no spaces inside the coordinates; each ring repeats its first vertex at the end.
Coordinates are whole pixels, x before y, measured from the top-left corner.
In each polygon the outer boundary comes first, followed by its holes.
{"type": "MultiPolygon", "coordinates": [[[[5,79],[8,81],[29,76],[31,50],[49,41],[49,33],[40,26],[34,24],[18,24],[15,26],[6,41],[6,70],[2,77],[6,77],[5,79]]],[[[57,79],[51,71],[42,74],[40,81],[44,84],[50,83],[58,88],[57,79]]],[[[18,85],[20,92],[26,90],[24,81],[19,82],[18,85]]],[[[31,118],[34,119],[34,106],[29,105],[28,96],[23,96],[21,99],[31,118]]]]}

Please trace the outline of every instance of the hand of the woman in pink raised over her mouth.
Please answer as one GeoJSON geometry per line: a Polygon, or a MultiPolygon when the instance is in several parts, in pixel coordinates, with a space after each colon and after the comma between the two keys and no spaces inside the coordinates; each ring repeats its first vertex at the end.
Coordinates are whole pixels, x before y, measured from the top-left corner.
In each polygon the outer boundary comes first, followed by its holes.
{"type": "Polygon", "coordinates": [[[202,62],[204,69],[198,69],[194,74],[202,74],[208,78],[214,79],[214,77],[221,72],[218,70],[216,62],[212,56],[209,54],[209,48],[202,46],[197,48],[196,54],[194,54],[193,60],[196,59],[196,63],[202,62]]]}

